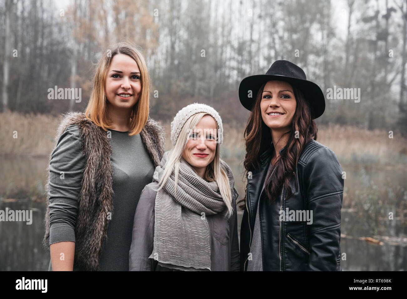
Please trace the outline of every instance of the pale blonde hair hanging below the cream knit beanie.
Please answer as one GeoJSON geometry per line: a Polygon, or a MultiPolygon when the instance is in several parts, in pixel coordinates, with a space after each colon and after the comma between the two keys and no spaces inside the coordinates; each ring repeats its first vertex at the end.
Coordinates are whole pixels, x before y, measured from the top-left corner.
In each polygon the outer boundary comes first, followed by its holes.
{"type": "MultiPolygon", "coordinates": [[[[158,182],[160,188],[155,191],[160,190],[174,172],[175,174],[175,186],[174,192],[175,195],[177,194],[177,181],[178,181],[178,173],[180,171],[179,168],[179,161],[182,157],[182,153],[186,147],[186,143],[188,142],[188,138],[193,131],[193,128],[198,124],[198,122],[203,118],[205,115],[210,115],[205,112],[196,113],[185,122],[184,127],[182,127],[181,132],[179,133],[177,142],[173,149],[171,149],[170,153],[168,154],[167,161],[164,165],[164,172],[163,175],[158,182]]],[[[216,122],[216,120],[215,120],[216,122]]],[[[229,178],[226,170],[223,166],[223,161],[220,158],[220,145],[219,143],[216,146],[215,150],[215,157],[213,158],[212,162],[206,167],[205,172],[205,179],[207,181],[216,181],[219,187],[219,191],[221,192],[223,201],[225,202],[226,206],[228,207],[228,216],[233,214],[232,209],[232,192],[230,190],[229,185],[229,178]]],[[[195,171],[195,170],[194,170],[195,171]]],[[[196,171],[195,171],[196,172],[196,171]]]]}

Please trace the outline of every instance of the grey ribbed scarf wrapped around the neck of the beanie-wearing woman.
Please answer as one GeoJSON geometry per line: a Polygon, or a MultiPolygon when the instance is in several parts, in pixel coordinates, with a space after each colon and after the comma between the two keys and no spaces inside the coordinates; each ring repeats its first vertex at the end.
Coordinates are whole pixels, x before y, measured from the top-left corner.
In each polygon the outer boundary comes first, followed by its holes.
{"type": "MultiPolygon", "coordinates": [[[[153,179],[160,181],[169,151],[164,153],[153,179]]],[[[234,178],[230,167],[221,160],[227,171],[232,196],[234,178]]],[[[210,231],[206,216],[225,209],[217,182],[199,177],[181,158],[174,196],[174,172],[155,197],[154,247],[149,258],[160,266],[184,271],[210,271],[210,231]]]]}

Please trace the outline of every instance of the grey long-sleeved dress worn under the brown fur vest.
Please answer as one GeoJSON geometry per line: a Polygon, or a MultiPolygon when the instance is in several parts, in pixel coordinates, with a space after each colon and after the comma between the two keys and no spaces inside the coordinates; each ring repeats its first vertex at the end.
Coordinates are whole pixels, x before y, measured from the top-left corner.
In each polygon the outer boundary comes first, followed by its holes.
{"type": "MultiPolygon", "coordinates": [[[[141,191],[153,180],[155,168],[140,134],[129,136],[128,132],[110,131],[114,210],[107,227],[107,240],[103,245],[99,266],[101,271],[128,271],[134,213],[141,191]]],[[[51,155],[50,244],[75,242],[77,199],[85,166],[80,141],[79,128],[76,125],[68,126],[51,155]]],[[[48,270],[52,271],[51,261],[48,270]]]]}

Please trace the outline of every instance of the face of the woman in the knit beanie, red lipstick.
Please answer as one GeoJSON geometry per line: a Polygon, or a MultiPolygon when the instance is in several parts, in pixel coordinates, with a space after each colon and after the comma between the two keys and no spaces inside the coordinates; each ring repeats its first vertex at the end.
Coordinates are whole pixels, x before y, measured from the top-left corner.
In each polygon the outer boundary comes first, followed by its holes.
{"type": "Polygon", "coordinates": [[[195,169],[200,177],[204,177],[206,166],[215,157],[217,128],[216,121],[212,116],[203,116],[190,133],[182,153],[182,158],[195,169]]]}

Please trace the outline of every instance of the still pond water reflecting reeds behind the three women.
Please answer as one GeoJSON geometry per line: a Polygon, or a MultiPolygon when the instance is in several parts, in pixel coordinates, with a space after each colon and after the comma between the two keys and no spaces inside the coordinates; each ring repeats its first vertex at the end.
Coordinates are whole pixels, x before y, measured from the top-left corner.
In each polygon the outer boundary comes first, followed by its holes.
{"type": "MultiPolygon", "coordinates": [[[[243,168],[225,161],[244,196],[243,168]]],[[[44,236],[46,157],[2,158],[0,210],[32,210],[32,224],[0,221],[0,271],[46,271],[44,236]]],[[[341,220],[343,271],[407,270],[407,175],[403,170],[346,166],[341,220]]],[[[243,212],[238,212],[238,231],[243,212]]]]}

